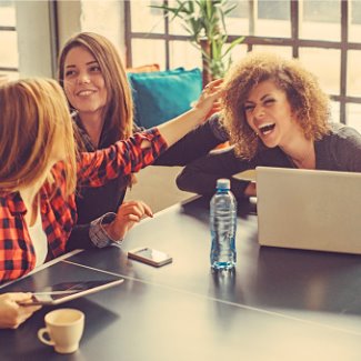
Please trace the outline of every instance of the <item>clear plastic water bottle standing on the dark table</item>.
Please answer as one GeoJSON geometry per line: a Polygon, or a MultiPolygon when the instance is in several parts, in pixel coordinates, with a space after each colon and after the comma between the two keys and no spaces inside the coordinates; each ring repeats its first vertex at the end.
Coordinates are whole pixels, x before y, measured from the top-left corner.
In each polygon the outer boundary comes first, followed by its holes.
{"type": "Polygon", "coordinates": [[[230,191],[230,180],[217,180],[217,191],[210,203],[212,235],[211,267],[230,270],[235,265],[237,201],[230,191]]]}

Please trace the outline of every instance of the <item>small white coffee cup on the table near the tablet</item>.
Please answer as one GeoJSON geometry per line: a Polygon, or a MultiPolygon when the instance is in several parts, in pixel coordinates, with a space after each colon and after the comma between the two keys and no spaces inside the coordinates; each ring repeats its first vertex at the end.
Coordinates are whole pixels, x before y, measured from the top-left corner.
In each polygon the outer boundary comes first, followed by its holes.
{"type": "Polygon", "coordinates": [[[84,313],[76,309],[58,309],[46,314],[46,328],[38,331],[41,342],[53,345],[59,353],[72,353],[79,349],[84,329],[84,313]],[[44,334],[48,337],[44,338],[44,334]]]}

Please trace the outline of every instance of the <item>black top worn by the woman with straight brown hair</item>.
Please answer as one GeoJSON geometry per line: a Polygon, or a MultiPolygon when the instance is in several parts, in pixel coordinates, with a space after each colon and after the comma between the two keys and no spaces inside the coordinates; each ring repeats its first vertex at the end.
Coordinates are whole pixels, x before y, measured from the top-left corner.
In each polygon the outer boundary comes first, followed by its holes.
{"type": "MultiPolygon", "coordinates": [[[[97,149],[91,143],[80,121],[77,124],[87,151],[96,151],[97,149]]],[[[103,132],[98,149],[111,146],[114,141],[112,138],[111,134],[103,132]]],[[[227,139],[227,133],[218,117],[212,117],[169,148],[157,159],[154,166],[185,166],[207,154],[227,139]]],[[[107,212],[118,211],[119,205],[123,202],[128,182],[129,177],[119,177],[100,188],[82,188],[78,190],[78,222],[67,243],[68,251],[93,247],[89,238],[90,222],[107,212]]]]}

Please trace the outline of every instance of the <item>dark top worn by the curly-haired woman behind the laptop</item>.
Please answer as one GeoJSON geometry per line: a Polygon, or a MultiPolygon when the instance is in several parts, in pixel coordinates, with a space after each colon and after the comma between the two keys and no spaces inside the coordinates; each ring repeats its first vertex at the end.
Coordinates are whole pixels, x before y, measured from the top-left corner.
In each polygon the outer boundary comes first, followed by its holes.
{"type": "MultiPolygon", "coordinates": [[[[332,124],[331,132],[314,142],[315,169],[331,171],[361,172],[361,134],[353,128],[332,124]]],[[[232,147],[205,154],[188,164],[177,178],[179,189],[199,194],[213,194],[219,178],[230,178],[231,189],[237,198],[244,197],[248,181],[232,176],[262,167],[295,168],[279,148],[267,148],[260,143],[255,156],[242,160],[232,147]]]]}

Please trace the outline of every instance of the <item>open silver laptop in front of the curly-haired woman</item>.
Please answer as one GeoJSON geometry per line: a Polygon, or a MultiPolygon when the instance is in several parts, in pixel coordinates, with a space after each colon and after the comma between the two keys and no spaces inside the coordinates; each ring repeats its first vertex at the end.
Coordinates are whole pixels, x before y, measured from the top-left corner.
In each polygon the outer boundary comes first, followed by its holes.
{"type": "Polygon", "coordinates": [[[361,173],[258,167],[259,243],[361,253],[361,173]]]}

